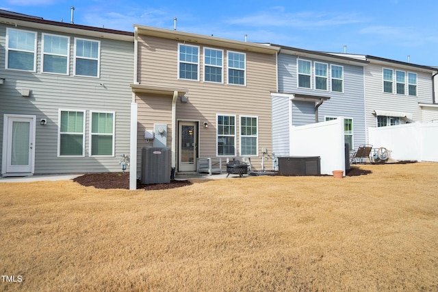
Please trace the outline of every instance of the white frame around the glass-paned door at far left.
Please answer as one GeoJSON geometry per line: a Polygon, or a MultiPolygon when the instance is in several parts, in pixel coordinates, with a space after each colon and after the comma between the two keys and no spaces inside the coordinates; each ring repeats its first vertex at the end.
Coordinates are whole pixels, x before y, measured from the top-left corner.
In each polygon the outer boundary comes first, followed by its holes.
{"type": "Polygon", "coordinates": [[[3,148],[1,159],[1,175],[33,175],[35,170],[35,133],[36,133],[36,116],[29,114],[3,114],[3,148]],[[10,162],[10,153],[8,152],[11,142],[11,134],[9,130],[10,122],[26,121],[29,122],[29,167],[21,171],[8,169],[10,162]]]}

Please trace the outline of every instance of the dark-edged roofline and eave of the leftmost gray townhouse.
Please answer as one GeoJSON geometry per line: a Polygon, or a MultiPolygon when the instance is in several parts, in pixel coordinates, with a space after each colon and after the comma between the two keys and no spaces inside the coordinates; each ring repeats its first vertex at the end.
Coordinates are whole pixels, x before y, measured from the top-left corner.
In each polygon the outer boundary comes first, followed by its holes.
{"type": "Polygon", "coordinates": [[[36,16],[26,16],[25,14],[6,14],[0,11],[0,23],[14,25],[15,27],[29,27],[37,29],[47,29],[67,34],[81,34],[96,38],[110,38],[114,40],[125,40],[133,42],[133,32],[125,32],[116,29],[103,27],[92,27],[87,25],[76,25],[73,23],[62,23],[59,21],[47,21],[36,16]]]}

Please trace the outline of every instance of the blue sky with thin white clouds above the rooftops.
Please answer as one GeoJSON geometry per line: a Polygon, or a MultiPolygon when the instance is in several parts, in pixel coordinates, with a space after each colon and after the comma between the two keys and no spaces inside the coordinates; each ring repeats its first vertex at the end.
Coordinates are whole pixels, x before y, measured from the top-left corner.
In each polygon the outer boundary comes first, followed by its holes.
{"type": "Polygon", "coordinates": [[[437,0],[2,0],[0,9],[133,32],[133,24],[438,66],[437,0]]]}

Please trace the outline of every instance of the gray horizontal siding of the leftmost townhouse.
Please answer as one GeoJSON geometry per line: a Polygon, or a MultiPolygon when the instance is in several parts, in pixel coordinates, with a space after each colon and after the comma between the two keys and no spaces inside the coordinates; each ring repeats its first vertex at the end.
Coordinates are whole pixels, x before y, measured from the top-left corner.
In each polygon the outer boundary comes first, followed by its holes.
{"type": "MultiPolygon", "coordinates": [[[[0,24],[0,77],[5,78],[0,86],[0,139],[3,140],[3,114],[35,115],[36,174],[120,171],[120,154],[129,154],[133,42],[75,35],[101,42],[100,77],[75,77],[75,36],[20,27],[38,32],[37,71],[21,72],[5,70],[5,28],[0,24]],[[69,75],[41,73],[41,36],[44,32],[70,36],[69,75]],[[22,97],[21,88],[31,89],[31,96],[22,97]],[[59,109],[86,110],[85,157],[57,157],[59,109]],[[90,157],[90,111],[94,110],[115,112],[114,157],[90,157]],[[47,125],[40,125],[41,118],[47,119],[47,125]]],[[[3,141],[0,141],[0,147],[3,147],[3,141]]]]}

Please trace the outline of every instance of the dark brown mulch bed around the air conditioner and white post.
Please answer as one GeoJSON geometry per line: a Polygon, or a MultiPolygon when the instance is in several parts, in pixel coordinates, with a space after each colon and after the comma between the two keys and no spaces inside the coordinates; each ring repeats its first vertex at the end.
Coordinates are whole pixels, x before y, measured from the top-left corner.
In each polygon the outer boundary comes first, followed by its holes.
{"type": "MultiPolygon", "coordinates": [[[[73,179],[83,186],[94,186],[95,188],[122,188],[129,190],[129,173],[87,173],[73,179]]],[[[188,180],[170,180],[170,184],[142,184],[137,180],[137,189],[166,190],[168,188],[179,188],[192,184],[188,180]]]]}

